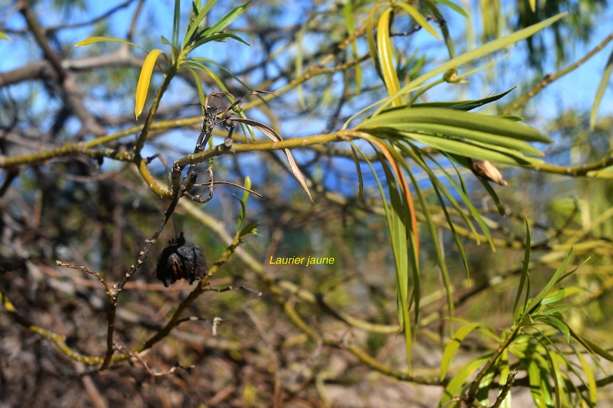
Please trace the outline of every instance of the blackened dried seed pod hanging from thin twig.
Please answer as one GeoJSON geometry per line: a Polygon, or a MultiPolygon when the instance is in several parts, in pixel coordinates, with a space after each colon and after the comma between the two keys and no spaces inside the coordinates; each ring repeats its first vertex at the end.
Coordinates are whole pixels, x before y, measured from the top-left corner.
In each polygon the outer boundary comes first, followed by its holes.
{"type": "Polygon", "coordinates": [[[158,258],[156,278],[168,287],[180,279],[192,284],[208,272],[207,261],[202,250],[193,242],[185,242],[183,232],[177,239],[172,239],[158,258]]]}

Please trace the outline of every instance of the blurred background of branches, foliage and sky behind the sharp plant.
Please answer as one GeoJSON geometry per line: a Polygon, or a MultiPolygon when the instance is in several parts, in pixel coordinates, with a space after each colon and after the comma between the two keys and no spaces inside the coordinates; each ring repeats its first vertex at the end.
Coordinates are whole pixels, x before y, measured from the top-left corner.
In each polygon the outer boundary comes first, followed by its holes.
{"type": "MultiPolygon", "coordinates": [[[[349,144],[313,144],[292,151],[315,206],[292,177],[281,152],[268,149],[215,158],[216,181],[243,185],[249,176],[251,190],[264,199],[252,195],[247,206],[246,218],[259,224],[257,236],[246,237],[211,277],[210,288],[243,286],[251,291],[207,290],[182,315],[193,318],[182,321],[160,343],[109,369],[83,375],[88,373],[87,363],[68,358],[57,346],[63,342],[80,355],[104,355],[107,297],[94,276],[59,267],[56,260],[91,268],[115,283],[134,264],[167,209],[167,202],[143,182],[132,163],[106,154],[103,160],[82,149],[96,138],[125,131],[122,137],[109,139],[104,148],[113,154],[132,150],[135,135],[147,120],[144,114],[137,120],[132,114],[145,53],[112,42],[78,48],[74,44],[105,35],[167,50],[159,37],[171,36],[172,2],[98,3],[0,4],[0,31],[10,38],[10,42],[0,40],[4,56],[0,158],[24,158],[13,165],[0,161],[0,288],[5,310],[14,307],[36,325],[33,333],[32,325],[26,330],[22,326],[28,324],[16,324],[13,313],[0,313],[0,407],[434,407],[455,373],[498,347],[491,336],[471,333],[460,339],[446,379],[438,379],[450,343],[449,314],[435,258],[439,245],[427,234],[423,209],[417,209],[421,317],[413,322],[414,371],[407,374],[398,327],[394,257],[375,177],[362,161],[364,197],[360,198],[349,144]],[[72,147],[58,154],[63,146],[72,147]],[[53,153],[44,156],[44,152],[53,153]],[[271,259],[292,256],[334,258],[335,262],[308,267],[270,264],[271,259]],[[61,341],[41,336],[37,328],[51,330],[61,341]],[[173,372],[158,375],[169,370],[173,372]]],[[[532,294],[546,286],[571,247],[574,258],[569,270],[591,257],[565,281],[562,303],[574,308],[560,314],[574,332],[602,347],[602,353],[596,354],[603,370],[590,359],[599,381],[597,402],[572,396],[539,402],[523,372],[512,388],[512,402],[505,399],[504,404],[613,404],[613,379],[606,374],[611,372],[607,356],[613,347],[610,85],[590,130],[591,102],[611,53],[611,9],[602,0],[480,0],[457,2],[455,7],[447,3],[437,2],[441,17],[428,8],[429,1],[406,2],[421,10],[438,32],[442,27],[449,30],[456,54],[568,12],[517,43],[508,51],[510,56],[467,81],[444,82],[417,100],[479,99],[516,87],[479,112],[522,116],[525,123],[554,139],[550,145],[537,144],[546,153],[546,164],[498,166],[509,184],[493,187],[506,211],[504,217],[470,169],[459,168],[496,246],[494,252],[484,237],[457,228],[470,280],[428,175],[414,166],[447,262],[455,317],[489,325],[500,333],[512,327],[527,219],[532,294]],[[460,7],[466,17],[455,10],[460,7]],[[598,62],[584,58],[591,57],[592,50],[598,62]],[[567,67],[573,70],[564,72],[567,67]]],[[[215,4],[200,26],[211,26],[237,6],[240,3],[234,1],[215,4]]],[[[205,94],[221,86],[237,97],[251,89],[275,92],[276,97],[266,104],[256,105],[253,101],[258,98],[249,98],[247,105],[254,107],[245,111],[285,139],[337,132],[360,109],[388,96],[370,59],[363,28],[364,21],[372,18],[369,13],[378,15],[381,6],[389,4],[250,2],[230,26],[245,33],[237,35],[250,46],[226,39],[196,51],[197,56],[215,61],[206,63],[210,73],[199,72],[198,80],[189,73],[177,74],[146,135],[142,156],[159,152],[173,163],[192,153],[202,110],[188,103],[200,101],[199,82],[205,94]],[[352,34],[351,38],[357,38],[355,46],[346,42],[352,34]],[[352,63],[356,59],[360,64],[352,63]],[[346,69],[343,64],[348,64],[346,69]]],[[[181,24],[188,21],[191,10],[191,2],[181,2],[181,24]]],[[[394,69],[402,83],[450,57],[446,42],[420,29],[406,13],[394,20],[390,38],[394,69]]],[[[470,62],[459,73],[504,55],[498,51],[470,62]]],[[[158,62],[167,69],[168,61],[158,62]]],[[[162,80],[156,69],[145,111],[162,80]]],[[[606,76],[603,81],[608,83],[606,76]]],[[[214,133],[213,144],[223,143],[225,136],[214,133]]],[[[234,137],[235,144],[253,143],[249,132],[240,127],[234,137]]],[[[440,156],[435,149],[428,152],[440,156]]],[[[449,162],[444,163],[455,174],[449,162]]],[[[165,185],[160,162],[152,161],[149,169],[165,185]]],[[[441,176],[436,166],[432,169],[441,176]]],[[[382,177],[381,166],[375,164],[375,170],[382,177]]],[[[199,182],[207,181],[202,169],[199,176],[199,182]]],[[[194,191],[207,192],[205,187],[194,191]]],[[[241,210],[234,195],[243,193],[230,185],[216,185],[212,201],[200,206],[182,199],[175,211],[175,228],[202,248],[209,267],[232,241],[241,210]]],[[[457,213],[451,217],[461,220],[457,213]]],[[[156,258],[173,237],[175,229],[169,224],[118,298],[115,343],[124,349],[133,349],[164,327],[192,289],[185,281],[166,288],[155,279],[156,258]]],[[[456,328],[460,325],[462,321],[456,328]]],[[[570,360],[581,366],[578,360],[570,360]]],[[[501,375],[500,370],[496,375],[501,375]]],[[[543,378],[550,388],[557,386],[554,379],[543,378]]],[[[581,381],[573,379],[581,387],[581,381]]],[[[496,403],[504,378],[500,384],[490,390],[489,404],[484,406],[496,403]]],[[[577,394],[572,387],[566,388],[569,395],[577,394]]],[[[479,398],[484,401],[482,395],[479,398]]]]}

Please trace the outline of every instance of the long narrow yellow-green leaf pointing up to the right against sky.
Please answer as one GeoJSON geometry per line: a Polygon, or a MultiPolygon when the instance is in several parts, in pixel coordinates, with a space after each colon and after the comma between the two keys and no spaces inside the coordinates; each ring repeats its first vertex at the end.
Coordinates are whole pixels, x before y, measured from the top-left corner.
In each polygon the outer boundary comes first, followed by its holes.
{"type": "Polygon", "coordinates": [[[409,92],[413,91],[415,87],[421,85],[427,80],[430,80],[431,78],[434,78],[436,75],[444,73],[449,69],[459,67],[460,65],[465,64],[466,62],[469,62],[469,61],[473,61],[474,59],[478,57],[482,57],[484,55],[493,53],[494,51],[501,50],[502,48],[508,45],[511,45],[513,43],[524,40],[527,37],[530,37],[530,35],[533,35],[536,32],[541,31],[543,28],[546,28],[550,24],[555,23],[555,21],[560,20],[560,18],[564,17],[565,15],[566,15],[566,12],[560,13],[558,15],[555,15],[554,17],[547,18],[547,20],[541,21],[538,24],[533,24],[527,28],[521,29],[512,34],[506,35],[505,37],[501,39],[493,40],[492,42],[479,46],[478,48],[475,48],[474,50],[468,51],[466,53],[463,53],[462,55],[459,55],[455,58],[450,59],[449,61],[445,62],[444,64],[439,65],[435,69],[430,70],[427,73],[424,73],[423,75],[415,78],[413,81],[410,81],[408,84],[403,86],[402,89],[400,89],[398,92],[395,92],[393,95],[390,95],[388,98],[383,100],[382,101],[383,103],[381,103],[381,106],[379,106],[379,108],[375,111],[375,114],[379,114],[381,110],[383,110],[384,108],[392,104],[392,102],[396,100],[396,98],[400,97],[400,95],[408,94],[409,92]]]}

